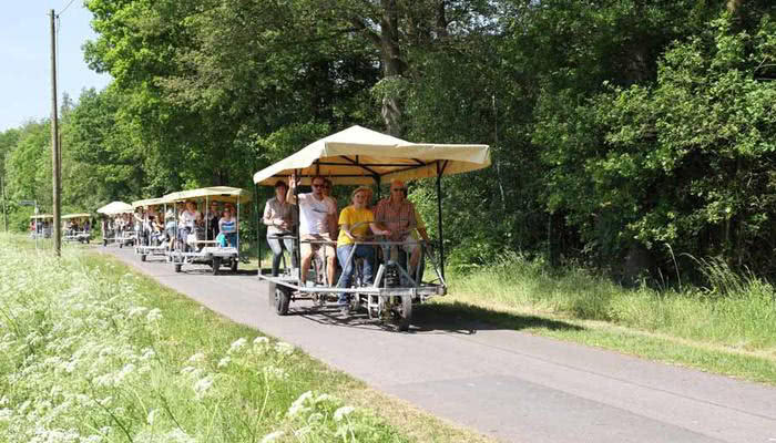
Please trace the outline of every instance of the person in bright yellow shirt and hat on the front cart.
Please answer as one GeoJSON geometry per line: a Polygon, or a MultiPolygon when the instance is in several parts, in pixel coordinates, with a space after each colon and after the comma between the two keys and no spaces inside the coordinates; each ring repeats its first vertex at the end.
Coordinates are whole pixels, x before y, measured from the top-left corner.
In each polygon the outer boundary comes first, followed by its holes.
{"type": "MultiPolygon", "coordinates": [[[[343,274],[339,277],[337,287],[348,288],[353,277],[354,262],[356,258],[364,259],[364,282],[371,285],[372,269],[375,268],[375,248],[371,245],[356,245],[356,241],[367,237],[369,228],[377,235],[390,235],[389,230],[380,229],[375,224],[375,214],[366,207],[369,198],[369,188],[361,186],[353,192],[353,205],[343,209],[339,214],[339,237],[337,238],[337,258],[343,274]],[[353,249],[356,251],[353,253],[353,249]],[[348,262],[350,254],[355,254],[353,260],[348,262]]],[[[343,309],[347,309],[348,297],[346,292],[339,295],[338,300],[343,309]]]]}

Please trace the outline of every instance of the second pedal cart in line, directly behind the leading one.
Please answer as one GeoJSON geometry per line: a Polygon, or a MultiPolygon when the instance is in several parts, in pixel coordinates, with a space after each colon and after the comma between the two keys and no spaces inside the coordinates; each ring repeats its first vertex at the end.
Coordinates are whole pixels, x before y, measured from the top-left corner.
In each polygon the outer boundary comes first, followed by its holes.
{"type": "Polygon", "coordinates": [[[163,197],[167,204],[172,204],[175,214],[175,238],[174,248],[166,251],[167,261],[173,264],[175,272],[181,272],[184,265],[207,265],[211,267],[213,275],[217,275],[221,266],[227,266],[233,272],[237,271],[239,264],[239,233],[237,230],[235,244],[221,244],[215,238],[207,238],[206,233],[210,226],[210,217],[204,217],[202,224],[198,224],[194,229],[186,235],[186,238],[180,238],[180,234],[184,229],[177,217],[177,209],[181,205],[187,202],[203,203],[205,208],[210,207],[212,202],[219,205],[236,206],[236,226],[239,229],[239,208],[241,205],[251,202],[251,195],[241,188],[228,186],[213,186],[191,190],[181,190],[177,193],[167,194],[163,197]]]}

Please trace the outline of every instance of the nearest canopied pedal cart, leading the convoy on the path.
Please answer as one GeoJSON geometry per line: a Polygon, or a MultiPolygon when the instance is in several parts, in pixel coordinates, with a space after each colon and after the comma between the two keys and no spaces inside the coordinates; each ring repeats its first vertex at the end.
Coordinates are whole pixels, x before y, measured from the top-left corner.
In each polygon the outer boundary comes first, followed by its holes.
{"type": "MultiPolygon", "coordinates": [[[[313,309],[326,306],[331,298],[341,292],[349,296],[350,309],[366,311],[370,319],[392,323],[406,331],[412,316],[412,303],[447,293],[445,282],[445,250],[442,244],[442,177],[481,169],[490,165],[490,148],[480,144],[432,144],[410,143],[381,134],[365,127],[353,126],[312,143],[295,154],[268,166],[254,175],[257,185],[274,186],[277,181],[288,179],[292,175],[303,185],[309,184],[315,176],[330,179],[334,185],[375,185],[399,179],[402,182],[421,178],[436,179],[437,223],[439,239],[437,254],[428,254],[429,248],[421,243],[421,260],[427,258],[433,268],[430,280],[422,278],[420,266],[415,272],[408,271],[396,259],[396,250],[401,241],[388,241],[379,237],[369,240],[356,240],[356,245],[371,245],[374,249],[385,250],[382,260],[377,261],[374,282],[365,286],[358,278],[358,267],[354,284],[349,288],[328,286],[323,278],[306,278],[300,285],[298,270],[285,266],[283,272],[273,277],[269,269],[262,269],[259,250],[259,271],[262,291],[268,298],[269,306],[277,315],[285,316],[293,302],[313,301],[313,309]]],[[[295,187],[298,194],[298,186],[295,187]]],[[[298,202],[298,199],[297,199],[298,202]]],[[[298,216],[298,206],[296,208],[298,216]]],[[[298,219],[298,218],[297,218],[298,219]]],[[[297,264],[300,240],[294,236],[297,264]]],[[[261,239],[258,241],[261,247],[261,239]]],[[[324,251],[326,248],[323,248],[324,251]]],[[[354,247],[355,251],[356,248],[354,247]]],[[[376,253],[377,254],[377,253],[376,253]]],[[[350,254],[346,266],[354,264],[355,254],[350,254]]],[[[321,260],[324,264],[326,260],[321,260]]],[[[316,274],[316,271],[313,271],[316,274]]],[[[326,271],[324,270],[324,275],[326,271]]],[[[339,281],[339,279],[337,279],[339,281]]]]}

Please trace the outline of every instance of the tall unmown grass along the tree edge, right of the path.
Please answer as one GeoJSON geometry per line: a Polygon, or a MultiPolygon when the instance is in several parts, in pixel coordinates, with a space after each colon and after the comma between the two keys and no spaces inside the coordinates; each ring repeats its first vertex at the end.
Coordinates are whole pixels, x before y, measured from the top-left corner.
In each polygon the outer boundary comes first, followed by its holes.
{"type": "Polygon", "coordinates": [[[453,299],[483,307],[544,311],[776,357],[776,291],[721,260],[698,260],[708,284],[682,290],[623,288],[579,267],[551,269],[506,255],[494,266],[448,278],[453,299]]]}

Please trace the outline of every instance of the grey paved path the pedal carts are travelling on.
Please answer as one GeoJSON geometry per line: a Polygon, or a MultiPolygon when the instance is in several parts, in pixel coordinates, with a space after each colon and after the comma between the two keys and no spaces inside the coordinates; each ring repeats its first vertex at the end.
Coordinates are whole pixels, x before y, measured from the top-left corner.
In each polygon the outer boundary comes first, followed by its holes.
{"type": "Polygon", "coordinates": [[[776,442],[774,388],[481,323],[427,322],[398,333],[334,312],[278,317],[255,275],[175,274],[167,264],[140,262],[132,248],[103,250],[234,321],[500,441],[776,442]]]}

